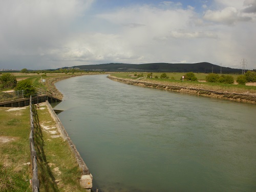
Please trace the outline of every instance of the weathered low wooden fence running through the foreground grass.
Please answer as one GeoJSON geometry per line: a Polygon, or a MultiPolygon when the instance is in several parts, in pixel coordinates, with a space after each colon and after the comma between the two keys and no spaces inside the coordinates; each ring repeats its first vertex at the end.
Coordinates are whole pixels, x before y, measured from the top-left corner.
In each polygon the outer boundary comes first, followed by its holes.
{"type": "Polygon", "coordinates": [[[36,160],[36,151],[34,146],[34,119],[32,112],[32,96],[30,96],[30,135],[29,135],[29,145],[30,145],[30,153],[31,153],[31,167],[32,167],[32,191],[39,191],[39,180],[37,174],[37,160],[36,160]]]}

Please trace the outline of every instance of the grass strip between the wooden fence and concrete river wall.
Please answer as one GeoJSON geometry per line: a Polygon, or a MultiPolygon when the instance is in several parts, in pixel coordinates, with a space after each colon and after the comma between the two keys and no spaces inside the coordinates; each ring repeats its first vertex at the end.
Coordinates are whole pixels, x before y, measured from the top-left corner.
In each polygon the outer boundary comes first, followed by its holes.
{"type": "MultiPolygon", "coordinates": [[[[35,147],[38,155],[38,178],[40,191],[84,191],[79,185],[81,170],[71,152],[68,142],[59,135],[47,106],[35,109],[35,147]],[[44,109],[45,108],[45,109],[44,109]],[[49,133],[45,127],[51,128],[49,133]]],[[[47,128],[47,129],[48,129],[47,128]]]]}

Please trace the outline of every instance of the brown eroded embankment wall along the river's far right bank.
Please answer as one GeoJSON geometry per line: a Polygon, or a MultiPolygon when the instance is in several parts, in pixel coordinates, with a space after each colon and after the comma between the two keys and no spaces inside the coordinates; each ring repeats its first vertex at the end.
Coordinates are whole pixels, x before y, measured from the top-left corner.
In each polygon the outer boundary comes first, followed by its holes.
{"type": "Polygon", "coordinates": [[[224,92],[217,92],[217,91],[197,89],[197,88],[172,86],[172,85],[167,85],[162,83],[146,82],[142,80],[136,81],[133,79],[123,79],[123,78],[113,77],[110,75],[108,76],[108,78],[111,80],[123,82],[126,84],[133,84],[135,86],[163,89],[168,91],[183,92],[183,93],[196,94],[196,95],[201,95],[206,97],[229,99],[233,101],[249,102],[249,103],[256,104],[256,96],[249,95],[249,94],[224,93],[224,92]]]}

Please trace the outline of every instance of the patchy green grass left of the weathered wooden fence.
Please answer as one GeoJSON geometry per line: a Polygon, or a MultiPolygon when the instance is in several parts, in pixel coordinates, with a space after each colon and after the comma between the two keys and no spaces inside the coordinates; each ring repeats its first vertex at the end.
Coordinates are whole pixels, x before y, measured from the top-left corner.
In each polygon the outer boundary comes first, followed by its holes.
{"type": "Polygon", "coordinates": [[[31,191],[29,108],[7,111],[0,108],[0,191],[31,191]]]}

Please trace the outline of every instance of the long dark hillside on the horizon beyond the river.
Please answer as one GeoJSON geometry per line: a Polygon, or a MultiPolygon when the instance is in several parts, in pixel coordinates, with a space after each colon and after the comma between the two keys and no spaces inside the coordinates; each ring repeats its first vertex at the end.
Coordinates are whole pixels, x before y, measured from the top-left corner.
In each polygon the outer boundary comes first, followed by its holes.
{"type": "MultiPolygon", "coordinates": [[[[220,73],[220,66],[209,62],[198,63],[106,63],[99,65],[73,66],[86,71],[120,71],[120,72],[195,72],[195,73],[220,73]]],[[[241,73],[241,69],[222,67],[222,73],[241,73]]]]}

